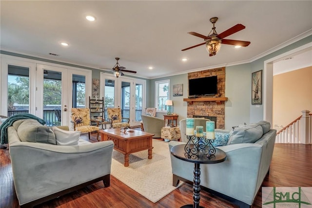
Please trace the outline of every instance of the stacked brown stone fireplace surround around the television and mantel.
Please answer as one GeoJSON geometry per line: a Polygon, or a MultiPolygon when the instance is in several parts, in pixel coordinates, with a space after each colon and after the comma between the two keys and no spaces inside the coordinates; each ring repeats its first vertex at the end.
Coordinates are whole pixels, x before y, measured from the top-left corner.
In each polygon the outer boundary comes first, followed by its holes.
{"type": "MultiPolygon", "coordinates": [[[[225,67],[209,69],[188,73],[188,79],[217,76],[217,92],[219,97],[225,97],[225,67]]],[[[203,87],[203,86],[198,86],[203,87]]],[[[201,98],[213,98],[214,96],[205,96],[201,98]]],[[[216,128],[224,129],[225,101],[187,101],[187,117],[216,117],[216,128]]]]}

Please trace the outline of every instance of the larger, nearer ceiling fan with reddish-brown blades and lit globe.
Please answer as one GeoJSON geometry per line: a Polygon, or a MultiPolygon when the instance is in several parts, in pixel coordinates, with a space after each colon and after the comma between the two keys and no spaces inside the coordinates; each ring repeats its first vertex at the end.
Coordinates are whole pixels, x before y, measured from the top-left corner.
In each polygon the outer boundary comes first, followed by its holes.
{"type": "Polygon", "coordinates": [[[221,43],[228,44],[228,45],[237,45],[237,46],[243,46],[246,47],[250,44],[249,41],[236,41],[236,40],[229,40],[224,39],[225,37],[228,37],[240,30],[245,29],[245,26],[242,24],[236,24],[233,27],[227,29],[226,31],[217,34],[215,31],[215,22],[218,20],[217,17],[210,18],[210,22],[213,23],[213,28],[210,31],[208,36],[201,35],[199,33],[195,32],[188,32],[190,35],[194,35],[199,38],[203,38],[205,42],[182,49],[182,51],[189,50],[191,48],[195,48],[197,46],[206,44],[207,51],[209,52],[209,56],[215,56],[215,54],[219,51],[221,47],[221,43]]]}

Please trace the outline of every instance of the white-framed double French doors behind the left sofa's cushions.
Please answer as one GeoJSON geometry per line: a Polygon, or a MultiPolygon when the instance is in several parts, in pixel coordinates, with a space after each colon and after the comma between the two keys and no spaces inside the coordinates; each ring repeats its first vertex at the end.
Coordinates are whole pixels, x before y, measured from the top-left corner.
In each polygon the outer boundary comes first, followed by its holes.
{"type": "Polygon", "coordinates": [[[90,76],[85,71],[37,64],[37,116],[49,126],[70,126],[71,108],[88,107],[86,94],[91,87],[86,81],[90,76]]]}

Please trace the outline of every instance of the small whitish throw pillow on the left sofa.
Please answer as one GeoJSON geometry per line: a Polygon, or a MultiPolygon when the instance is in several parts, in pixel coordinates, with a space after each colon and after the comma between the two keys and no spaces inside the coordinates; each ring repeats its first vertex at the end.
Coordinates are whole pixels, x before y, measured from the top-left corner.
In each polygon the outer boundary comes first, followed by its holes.
{"type": "Polygon", "coordinates": [[[52,127],[57,139],[57,145],[72,146],[78,145],[80,131],[66,131],[56,126],[52,127]]]}

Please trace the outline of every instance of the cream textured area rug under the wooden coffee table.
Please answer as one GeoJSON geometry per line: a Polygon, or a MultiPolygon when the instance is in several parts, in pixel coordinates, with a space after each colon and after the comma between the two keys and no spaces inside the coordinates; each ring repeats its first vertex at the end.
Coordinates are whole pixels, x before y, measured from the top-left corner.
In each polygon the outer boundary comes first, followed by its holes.
{"type": "MultiPolygon", "coordinates": [[[[136,152],[129,156],[128,167],[123,166],[123,154],[114,150],[111,174],[156,203],[177,187],[172,186],[168,143],[153,139],[153,146],[152,159],[148,159],[148,150],[136,152]]],[[[182,184],[183,182],[180,182],[179,186],[182,184]]]]}

